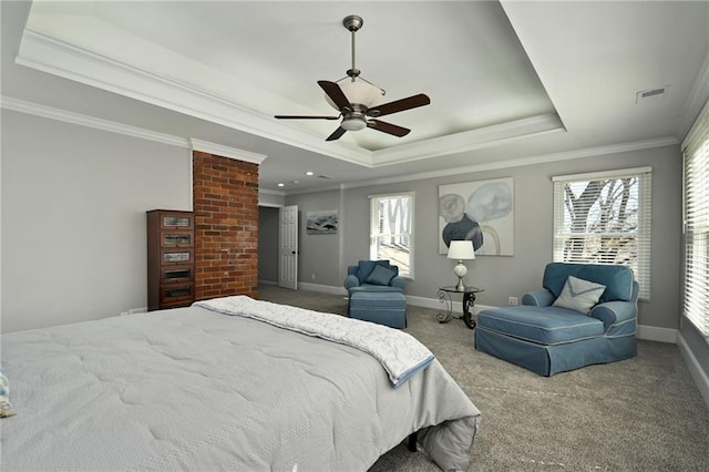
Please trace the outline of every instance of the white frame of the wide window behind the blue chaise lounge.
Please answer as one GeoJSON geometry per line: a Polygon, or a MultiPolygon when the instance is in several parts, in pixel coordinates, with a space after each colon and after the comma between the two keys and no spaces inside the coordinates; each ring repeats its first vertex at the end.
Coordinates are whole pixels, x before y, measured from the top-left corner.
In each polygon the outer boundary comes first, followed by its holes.
{"type": "MultiPolygon", "coordinates": [[[[607,172],[593,172],[587,174],[561,175],[553,177],[554,182],[554,254],[553,260],[556,263],[593,263],[593,264],[625,264],[628,265],[634,274],[635,279],[640,286],[639,298],[643,300],[650,299],[650,248],[651,248],[651,214],[653,214],[653,168],[636,167],[624,168],[607,172]],[[637,194],[633,193],[630,201],[637,202],[637,225],[628,230],[613,230],[608,233],[600,232],[574,232],[569,224],[569,212],[565,201],[566,184],[576,184],[580,186],[584,183],[596,181],[620,181],[624,178],[637,178],[637,194]],[[593,254],[584,255],[578,258],[569,255],[565,250],[569,237],[578,238],[580,236],[594,238],[595,240],[617,239],[618,237],[628,237],[635,240],[635,245],[630,252],[635,252],[637,256],[630,261],[618,261],[604,259],[603,255],[593,254]]],[[[609,187],[604,186],[604,192],[609,187]]],[[[580,195],[576,195],[580,197],[580,195]]],[[[589,202],[597,202],[589,201],[589,202]]],[[[596,204],[596,207],[597,204],[596,204]]],[[[609,213],[613,215],[613,212],[609,213]]]]}

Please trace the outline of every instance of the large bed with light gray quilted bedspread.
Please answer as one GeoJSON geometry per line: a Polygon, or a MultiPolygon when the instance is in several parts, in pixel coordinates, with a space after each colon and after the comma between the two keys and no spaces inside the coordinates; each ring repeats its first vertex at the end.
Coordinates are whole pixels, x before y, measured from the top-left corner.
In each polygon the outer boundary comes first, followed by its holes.
{"type": "Polygon", "coordinates": [[[409,335],[248,297],[216,302],[240,308],[3,335],[17,414],[1,420],[0,469],[366,471],[417,432],[443,470],[467,468],[480,411],[438,360],[392,376],[377,347],[278,319],[364,327],[384,351],[409,335]]]}

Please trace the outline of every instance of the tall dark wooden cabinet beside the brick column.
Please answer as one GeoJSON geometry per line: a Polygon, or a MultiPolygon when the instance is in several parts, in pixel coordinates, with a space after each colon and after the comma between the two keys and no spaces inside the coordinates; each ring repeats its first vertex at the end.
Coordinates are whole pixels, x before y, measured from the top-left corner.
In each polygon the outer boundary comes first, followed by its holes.
{"type": "Polygon", "coordinates": [[[147,310],[186,307],[195,300],[193,212],[147,212],[147,310]]]}

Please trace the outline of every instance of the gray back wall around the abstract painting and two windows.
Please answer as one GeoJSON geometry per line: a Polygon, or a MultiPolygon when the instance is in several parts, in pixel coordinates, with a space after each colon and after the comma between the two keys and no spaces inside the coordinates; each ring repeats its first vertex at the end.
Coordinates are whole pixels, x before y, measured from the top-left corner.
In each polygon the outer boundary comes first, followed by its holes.
{"type": "Polygon", "coordinates": [[[679,146],[666,146],[553,164],[536,164],[417,179],[388,185],[346,188],[337,192],[287,197],[301,212],[327,209],[340,202],[341,246],[332,236],[305,237],[300,256],[300,281],[312,281],[310,270],[328,278],[318,284],[340,286],[346,266],[369,257],[369,195],[414,192],[414,279],[407,286],[411,296],[435,298],[440,285],[455,281],[454,265],[438,249],[438,186],[441,184],[514,177],[514,256],[481,256],[469,261],[469,283],[482,287],[480,305],[501,306],[508,296],[521,297],[541,287],[542,271],[552,259],[552,176],[627,167],[653,167],[653,255],[650,301],[639,304],[639,324],[656,328],[679,328],[681,155],[679,146]],[[323,238],[327,239],[327,242],[323,238]],[[327,244],[326,244],[327,243],[327,244]],[[340,249],[341,247],[341,249],[340,249]]]}

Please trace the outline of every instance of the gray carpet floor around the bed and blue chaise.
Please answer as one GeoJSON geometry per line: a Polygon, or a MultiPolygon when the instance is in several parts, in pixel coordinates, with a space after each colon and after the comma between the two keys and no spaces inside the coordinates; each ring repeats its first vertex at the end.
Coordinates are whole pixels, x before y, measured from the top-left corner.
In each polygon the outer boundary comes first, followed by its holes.
{"type": "MultiPolygon", "coordinates": [[[[345,315],[342,296],[259,285],[278,304],[345,315]]],[[[409,306],[423,342],[482,411],[470,471],[709,471],[709,410],[677,346],[638,341],[638,356],[554,377],[477,352],[462,320],[409,306]]],[[[439,471],[402,442],[369,472],[439,471]]]]}

